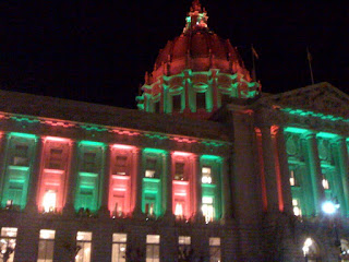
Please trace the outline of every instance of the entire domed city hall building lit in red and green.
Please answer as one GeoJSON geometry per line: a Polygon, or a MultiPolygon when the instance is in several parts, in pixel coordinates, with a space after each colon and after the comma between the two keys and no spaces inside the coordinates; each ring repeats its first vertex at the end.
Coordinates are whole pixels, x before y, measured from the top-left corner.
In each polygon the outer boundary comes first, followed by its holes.
{"type": "Polygon", "coordinates": [[[0,261],[349,261],[349,97],[270,95],[193,1],[140,110],[0,91],[0,261]]]}

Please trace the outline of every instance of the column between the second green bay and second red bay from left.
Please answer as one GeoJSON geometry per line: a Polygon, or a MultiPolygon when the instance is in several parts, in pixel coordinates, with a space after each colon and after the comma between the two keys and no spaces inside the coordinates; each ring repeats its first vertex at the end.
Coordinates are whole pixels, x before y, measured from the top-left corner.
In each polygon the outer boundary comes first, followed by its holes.
{"type": "Polygon", "coordinates": [[[104,160],[104,176],[103,176],[103,191],[101,191],[101,203],[98,211],[99,215],[104,217],[110,217],[110,211],[108,209],[109,202],[109,188],[110,188],[110,145],[105,146],[105,160],[104,160]]]}

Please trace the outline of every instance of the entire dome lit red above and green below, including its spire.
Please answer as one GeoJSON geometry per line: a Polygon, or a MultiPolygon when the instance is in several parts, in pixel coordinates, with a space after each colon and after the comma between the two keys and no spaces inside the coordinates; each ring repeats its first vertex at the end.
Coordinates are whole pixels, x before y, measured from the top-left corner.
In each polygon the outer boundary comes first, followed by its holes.
{"type": "Polygon", "coordinates": [[[209,117],[231,98],[248,99],[261,85],[229,40],[207,26],[207,12],[194,0],[183,33],[160,50],[153,72],[145,74],[137,107],[149,112],[209,117]]]}

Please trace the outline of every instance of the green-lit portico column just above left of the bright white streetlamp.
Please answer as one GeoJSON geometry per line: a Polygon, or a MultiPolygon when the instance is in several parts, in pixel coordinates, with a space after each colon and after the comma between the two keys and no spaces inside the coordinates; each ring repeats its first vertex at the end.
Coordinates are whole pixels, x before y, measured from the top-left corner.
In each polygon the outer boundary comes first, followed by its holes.
{"type": "Polygon", "coordinates": [[[321,203],[325,201],[325,191],[322,186],[322,171],[318,159],[318,151],[315,134],[306,134],[305,141],[308,151],[308,165],[312,181],[314,212],[315,215],[318,215],[321,212],[321,203]]]}

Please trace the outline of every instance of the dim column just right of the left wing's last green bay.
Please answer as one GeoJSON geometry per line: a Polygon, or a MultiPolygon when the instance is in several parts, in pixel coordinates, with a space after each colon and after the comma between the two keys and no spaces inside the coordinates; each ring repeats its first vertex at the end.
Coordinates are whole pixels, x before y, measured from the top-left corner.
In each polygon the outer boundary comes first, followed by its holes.
{"type": "MultiPolygon", "coordinates": [[[[222,167],[221,167],[221,177],[222,177],[222,218],[225,222],[230,222],[232,219],[232,201],[231,201],[231,177],[229,174],[229,158],[225,157],[222,159],[222,167]]],[[[218,188],[218,192],[221,191],[218,188]]]]}

